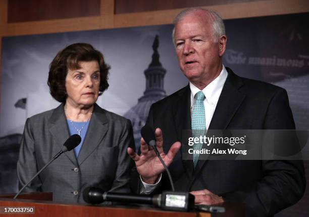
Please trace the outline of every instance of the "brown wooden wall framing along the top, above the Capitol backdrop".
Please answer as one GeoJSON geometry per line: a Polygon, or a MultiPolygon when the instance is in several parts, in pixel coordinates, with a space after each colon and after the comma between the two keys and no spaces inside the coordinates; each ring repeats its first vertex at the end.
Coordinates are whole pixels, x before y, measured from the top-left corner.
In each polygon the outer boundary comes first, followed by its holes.
{"type": "MultiPolygon", "coordinates": [[[[119,0],[54,0],[59,1],[74,1],[79,8],[86,8],[84,4],[88,2],[96,2],[96,12],[98,16],[82,16],[65,19],[48,19],[48,20],[36,20],[25,22],[9,23],[7,20],[9,4],[12,2],[30,2],[40,0],[0,0],[0,37],[1,36],[13,36],[13,35],[28,35],[28,34],[41,34],[41,33],[54,33],[54,32],[70,32],[81,31],[91,29],[105,29],[105,28],[122,28],[133,26],[148,26],[148,25],[162,25],[170,24],[173,18],[183,9],[170,9],[170,10],[158,10],[147,12],[135,12],[125,14],[115,14],[116,4],[119,0]],[[82,2],[82,3],[81,3],[82,2]],[[98,3],[99,2],[99,3],[98,3]],[[98,11],[98,12],[97,12],[98,11]],[[4,12],[4,13],[1,13],[4,12]],[[4,17],[5,15],[5,17],[4,17]]],[[[50,0],[41,0],[50,1],[50,0]]],[[[121,0],[124,1],[124,0],[121,0]]],[[[134,1],[130,0],[133,5],[134,1]]],[[[152,2],[160,2],[162,0],[156,0],[152,2]]],[[[166,1],[166,0],[165,0],[166,1]]],[[[178,1],[178,0],[171,0],[178,1]]],[[[188,0],[179,0],[188,1],[188,0]]],[[[210,0],[212,1],[212,0],[210,0]]],[[[281,15],[291,13],[303,13],[309,12],[308,0],[218,0],[219,3],[233,2],[229,4],[203,6],[217,11],[223,19],[235,19],[246,17],[259,17],[270,15],[281,15]],[[235,3],[235,1],[242,1],[235,3]]],[[[53,2],[53,1],[50,1],[53,2]]],[[[151,1],[143,1],[151,4],[151,1]]],[[[166,1],[167,4],[169,1],[166,1]]],[[[195,0],[192,4],[199,4],[201,0],[195,0]]],[[[208,1],[205,1],[208,2],[208,1]]],[[[134,5],[133,5],[134,6],[134,5]]],[[[192,6],[192,5],[190,5],[192,6]]],[[[65,13],[65,12],[63,12],[65,13]]],[[[92,15],[94,12],[92,13],[92,15]]],[[[59,15],[60,16],[60,15],[59,15]]],[[[63,15],[64,16],[64,15],[63,15]]]]}

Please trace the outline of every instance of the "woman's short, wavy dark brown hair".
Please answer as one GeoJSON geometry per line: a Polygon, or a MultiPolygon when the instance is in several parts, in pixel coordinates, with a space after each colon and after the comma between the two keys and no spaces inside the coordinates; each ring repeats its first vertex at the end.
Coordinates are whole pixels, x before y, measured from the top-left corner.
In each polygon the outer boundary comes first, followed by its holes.
{"type": "Polygon", "coordinates": [[[50,63],[47,81],[50,95],[58,102],[64,103],[67,99],[66,77],[68,69],[80,69],[80,62],[93,60],[97,61],[100,67],[99,95],[101,95],[109,87],[108,74],[111,67],[105,63],[101,52],[86,43],[69,45],[58,52],[52,63],[50,63]]]}

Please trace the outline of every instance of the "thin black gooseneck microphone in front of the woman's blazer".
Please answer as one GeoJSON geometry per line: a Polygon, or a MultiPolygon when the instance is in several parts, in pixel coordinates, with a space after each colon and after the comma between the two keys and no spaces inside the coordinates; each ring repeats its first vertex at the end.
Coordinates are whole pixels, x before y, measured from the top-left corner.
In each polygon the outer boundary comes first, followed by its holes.
{"type": "Polygon", "coordinates": [[[51,160],[49,160],[30,180],[29,182],[27,182],[26,185],[24,185],[19,192],[15,195],[15,197],[13,199],[16,199],[18,197],[18,195],[32,182],[32,180],[34,180],[35,177],[37,177],[41,171],[43,171],[43,169],[45,169],[50,163],[52,163],[56,158],[58,158],[62,153],[67,152],[67,151],[71,151],[72,149],[74,149],[76,146],[79,145],[79,143],[81,142],[81,138],[79,135],[74,134],[72,136],[69,137],[69,139],[67,139],[67,141],[63,144],[63,148],[60,150],[60,152],[58,152],[51,160]]]}

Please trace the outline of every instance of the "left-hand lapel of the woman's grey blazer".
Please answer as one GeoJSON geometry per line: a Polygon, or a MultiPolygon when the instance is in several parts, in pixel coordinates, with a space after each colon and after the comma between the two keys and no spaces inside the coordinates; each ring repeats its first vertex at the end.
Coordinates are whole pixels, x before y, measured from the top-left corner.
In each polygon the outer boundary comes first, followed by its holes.
{"type": "MultiPolygon", "coordinates": [[[[63,144],[70,137],[67,119],[64,113],[63,104],[58,106],[49,120],[49,132],[53,135],[56,144],[59,149],[63,148],[63,144]]],[[[74,151],[68,151],[64,153],[74,165],[77,165],[77,160],[74,151]]]]}

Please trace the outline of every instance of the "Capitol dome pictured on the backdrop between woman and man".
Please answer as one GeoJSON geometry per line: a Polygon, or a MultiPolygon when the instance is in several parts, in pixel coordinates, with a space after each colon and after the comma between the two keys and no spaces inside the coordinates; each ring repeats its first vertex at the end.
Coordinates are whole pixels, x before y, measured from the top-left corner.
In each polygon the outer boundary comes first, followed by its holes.
{"type": "Polygon", "coordinates": [[[136,150],[140,147],[140,129],[145,125],[151,104],[166,97],[166,92],[164,90],[166,69],[163,68],[160,63],[158,47],[159,36],[156,35],[152,44],[152,61],[144,71],[146,77],[146,90],[143,96],[138,99],[138,103],[124,114],[124,116],[132,122],[136,150]]]}

